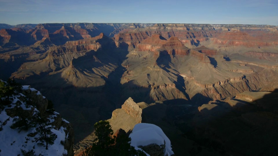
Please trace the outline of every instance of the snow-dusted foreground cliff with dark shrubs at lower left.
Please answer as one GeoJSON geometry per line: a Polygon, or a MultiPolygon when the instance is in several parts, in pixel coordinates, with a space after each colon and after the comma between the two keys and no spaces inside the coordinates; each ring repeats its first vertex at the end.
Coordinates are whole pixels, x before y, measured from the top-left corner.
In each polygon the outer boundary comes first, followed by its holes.
{"type": "Polygon", "coordinates": [[[73,155],[69,122],[30,86],[0,81],[0,155],[73,155]]]}

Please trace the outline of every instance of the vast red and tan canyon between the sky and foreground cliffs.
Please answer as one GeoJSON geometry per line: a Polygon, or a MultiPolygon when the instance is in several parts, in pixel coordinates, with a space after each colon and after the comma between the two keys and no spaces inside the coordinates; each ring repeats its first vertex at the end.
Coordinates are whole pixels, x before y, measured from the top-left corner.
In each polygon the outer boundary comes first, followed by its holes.
{"type": "Polygon", "coordinates": [[[274,105],[237,106],[252,103],[243,93],[265,99],[269,96],[259,93],[277,92],[277,26],[45,23],[0,28],[0,79],[40,90],[73,124],[76,144],[94,131],[95,122],[113,118],[129,97],[143,102],[142,122],[160,126],[176,155],[210,149],[248,153],[240,146],[229,148],[227,134],[219,130],[224,128],[217,124],[230,122],[231,112],[235,126],[248,120],[263,131],[253,123],[259,116],[276,123],[274,105]],[[225,120],[211,119],[213,113],[225,120]],[[212,137],[197,138],[201,132],[212,137]],[[221,146],[202,144],[204,138],[221,146]],[[182,148],[182,142],[190,146],[182,148]]]}

